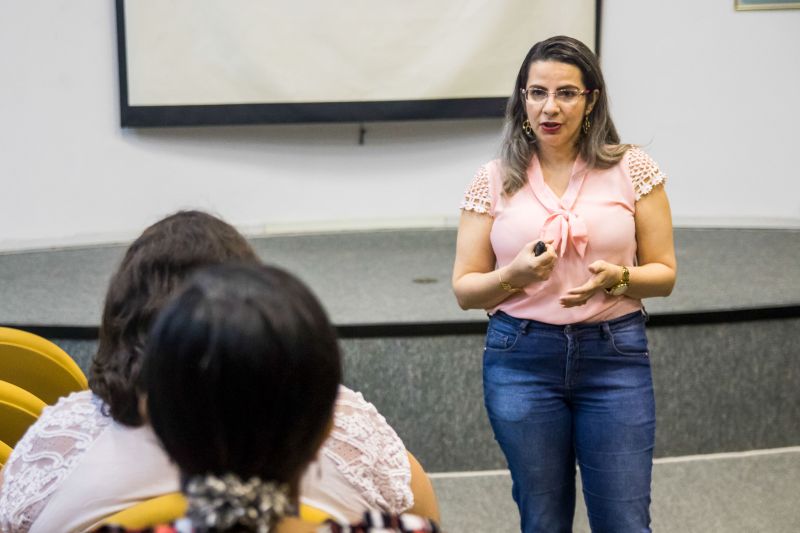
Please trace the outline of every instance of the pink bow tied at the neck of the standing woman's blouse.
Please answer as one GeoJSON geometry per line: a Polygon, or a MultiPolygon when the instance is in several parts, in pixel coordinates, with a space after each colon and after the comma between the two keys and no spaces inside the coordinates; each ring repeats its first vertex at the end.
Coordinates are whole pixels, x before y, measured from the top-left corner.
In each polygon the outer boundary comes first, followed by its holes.
{"type": "Polygon", "coordinates": [[[585,163],[578,157],[573,165],[567,190],[564,191],[561,198],[556,196],[544,182],[544,174],[538,158],[533,158],[528,169],[528,182],[533,189],[533,194],[550,213],[542,224],[539,238],[543,241],[553,241],[553,247],[558,250],[559,257],[564,256],[569,243],[572,243],[578,255],[583,257],[589,243],[586,221],[572,210],[583,185],[583,179],[587,174],[585,168],[585,163]]]}

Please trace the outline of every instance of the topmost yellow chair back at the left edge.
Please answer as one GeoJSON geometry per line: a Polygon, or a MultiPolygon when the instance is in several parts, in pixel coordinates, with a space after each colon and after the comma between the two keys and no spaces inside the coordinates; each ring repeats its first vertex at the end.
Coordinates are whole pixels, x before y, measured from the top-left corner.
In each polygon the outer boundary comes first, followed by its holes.
{"type": "Polygon", "coordinates": [[[33,333],[0,328],[0,380],[54,404],[61,396],[88,388],[86,376],[67,353],[33,333]]]}

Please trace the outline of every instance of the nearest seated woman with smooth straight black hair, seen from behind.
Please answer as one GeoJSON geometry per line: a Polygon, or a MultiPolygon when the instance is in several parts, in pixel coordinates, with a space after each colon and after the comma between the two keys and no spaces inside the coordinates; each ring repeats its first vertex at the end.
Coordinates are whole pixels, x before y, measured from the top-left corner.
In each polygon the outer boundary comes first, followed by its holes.
{"type": "Polygon", "coordinates": [[[437,531],[413,515],[320,527],[297,517],[340,379],[333,327],[295,277],[254,265],[193,276],[153,326],[141,374],[150,423],[188,500],[185,518],[150,531],[437,531]]]}

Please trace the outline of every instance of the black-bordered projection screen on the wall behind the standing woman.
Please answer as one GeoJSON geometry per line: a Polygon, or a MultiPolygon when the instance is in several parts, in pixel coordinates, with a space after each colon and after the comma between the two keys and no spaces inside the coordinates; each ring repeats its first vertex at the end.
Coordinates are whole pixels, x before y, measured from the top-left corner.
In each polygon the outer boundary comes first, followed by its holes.
{"type": "Polygon", "coordinates": [[[123,127],[501,116],[599,0],[117,0],[123,127]]]}

